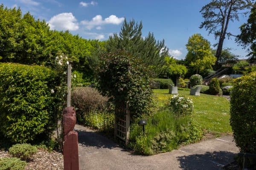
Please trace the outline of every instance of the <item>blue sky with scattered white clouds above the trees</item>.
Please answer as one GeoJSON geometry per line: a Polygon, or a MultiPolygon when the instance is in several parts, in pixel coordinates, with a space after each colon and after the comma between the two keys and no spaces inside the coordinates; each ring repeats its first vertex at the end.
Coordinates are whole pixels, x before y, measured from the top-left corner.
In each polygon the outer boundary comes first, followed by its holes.
{"type": "MultiPolygon", "coordinates": [[[[9,8],[20,7],[34,17],[46,20],[51,29],[70,30],[86,39],[106,40],[119,32],[124,18],[143,23],[143,36],[153,32],[157,40],[165,40],[169,53],[175,58],[186,57],[186,43],[192,34],[200,33],[211,44],[212,34],[198,28],[203,21],[201,8],[210,0],[1,0],[9,8]]],[[[248,17],[248,16],[247,16],[248,17]]],[[[228,31],[239,34],[239,26],[247,21],[230,23],[228,31]]],[[[226,39],[224,47],[246,58],[247,51],[235,39],[226,39]]]]}

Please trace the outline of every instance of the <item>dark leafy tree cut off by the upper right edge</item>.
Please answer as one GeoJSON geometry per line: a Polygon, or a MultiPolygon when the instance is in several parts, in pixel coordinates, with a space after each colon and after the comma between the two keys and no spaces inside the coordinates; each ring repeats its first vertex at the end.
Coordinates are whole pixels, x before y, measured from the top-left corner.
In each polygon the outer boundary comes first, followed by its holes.
{"type": "Polygon", "coordinates": [[[247,23],[241,27],[241,34],[238,35],[236,42],[239,42],[244,48],[248,48],[249,62],[256,62],[256,3],[251,9],[247,23]]]}

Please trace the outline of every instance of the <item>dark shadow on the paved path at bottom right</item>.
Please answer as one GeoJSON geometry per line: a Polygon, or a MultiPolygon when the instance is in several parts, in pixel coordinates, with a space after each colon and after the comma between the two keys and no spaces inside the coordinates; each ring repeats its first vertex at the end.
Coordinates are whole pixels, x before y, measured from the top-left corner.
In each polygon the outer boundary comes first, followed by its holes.
{"type": "Polygon", "coordinates": [[[222,170],[224,165],[234,161],[236,154],[228,151],[206,152],[177,157],[182,170],[222,170]]]}

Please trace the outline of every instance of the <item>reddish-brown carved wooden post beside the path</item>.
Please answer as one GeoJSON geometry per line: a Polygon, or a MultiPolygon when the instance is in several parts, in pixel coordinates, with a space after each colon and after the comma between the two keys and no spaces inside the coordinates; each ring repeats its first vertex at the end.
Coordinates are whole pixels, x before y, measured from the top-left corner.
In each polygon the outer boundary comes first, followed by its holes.
{"type": "Polygon", "coordinates": [[[78,134],[73,131],[76,125],[76,111],[67,107],[63,113],[63,157],[64,170],[79,170],[78,134]]]}

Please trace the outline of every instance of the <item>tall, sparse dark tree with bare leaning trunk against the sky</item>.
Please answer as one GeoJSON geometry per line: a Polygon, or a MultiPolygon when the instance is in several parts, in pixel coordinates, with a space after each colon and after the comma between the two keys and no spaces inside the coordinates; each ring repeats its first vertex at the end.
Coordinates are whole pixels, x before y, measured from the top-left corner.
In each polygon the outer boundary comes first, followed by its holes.
{"type": "Polygon", "coordinates": [[[239,20],[239,14],[246,15],[252,6],[253,0],[211,0],[206,6],[201,9],[201,14],[204,22],[201,23],[199,28],[206,28],[209,34],[214,34],[215,39],[218,38],[218,47],[215,57],[218,64],[219,57],[221,56],[222,46],[224,39],[229,38],[231,35],[227,31],[230,20],[239,20]]]}

